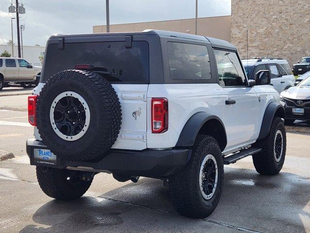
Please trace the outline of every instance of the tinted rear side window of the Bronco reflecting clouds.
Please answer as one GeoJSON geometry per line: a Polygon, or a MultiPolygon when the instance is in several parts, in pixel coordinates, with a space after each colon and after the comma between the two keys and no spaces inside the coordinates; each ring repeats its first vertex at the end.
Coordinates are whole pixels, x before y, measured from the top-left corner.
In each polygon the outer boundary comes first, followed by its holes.
{"type": "Polygon", "coordinates": [[[210,59],[206,46],[168,42],[167,48],[171,79],[211,79],[210,59]]]}

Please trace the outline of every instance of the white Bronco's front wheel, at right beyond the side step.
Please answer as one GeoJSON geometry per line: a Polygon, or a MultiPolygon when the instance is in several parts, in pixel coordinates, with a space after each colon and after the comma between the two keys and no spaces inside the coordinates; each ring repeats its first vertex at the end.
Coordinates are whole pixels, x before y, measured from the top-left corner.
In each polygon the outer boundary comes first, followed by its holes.
{"type": "Polygon", "coordinates": [[[263,150],[252,156],[255,169],[263,175],[276,175],[282,169],[286,152],[286,132],[280,117],[274,117],[268,135],[255,143],[263,150]]]}

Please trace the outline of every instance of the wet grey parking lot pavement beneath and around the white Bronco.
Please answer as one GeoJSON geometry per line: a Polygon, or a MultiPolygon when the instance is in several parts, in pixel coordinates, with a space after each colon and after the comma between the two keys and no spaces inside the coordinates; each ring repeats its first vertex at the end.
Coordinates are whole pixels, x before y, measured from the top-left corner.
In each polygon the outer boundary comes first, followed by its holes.
{"type": "Polygon", "coordinates": [[[10,88],[0,91],[0,150],[15,156],[0,162],[1,233],[310,233],[309,122],[287,127],[286,161],[278,175],[259,175],[250,157],[225,166],[217,209],[197,220],[177,215],[168,187],[149,178],[119,183],[101,173],[79,200],[47,197],[25,151],[26,139],[33,137],[27,95],[4,96],[24,91],[10,88]]]}

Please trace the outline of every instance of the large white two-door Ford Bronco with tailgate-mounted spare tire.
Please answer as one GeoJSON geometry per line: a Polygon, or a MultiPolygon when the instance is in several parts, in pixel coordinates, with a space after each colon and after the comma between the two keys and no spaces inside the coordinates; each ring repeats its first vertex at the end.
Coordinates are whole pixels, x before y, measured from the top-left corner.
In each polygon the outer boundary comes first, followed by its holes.
{"type": "Polygon", "coordinates": [[[175,210],[209,216],[224,165],[252,156],[275,175],[284,108],[269,70],[248,80],[237,49],[214,38],[141,33],[55,35],[28,99],[31,165],[50,197],[82,196],[98,172],[164,180],[175,210]]]}

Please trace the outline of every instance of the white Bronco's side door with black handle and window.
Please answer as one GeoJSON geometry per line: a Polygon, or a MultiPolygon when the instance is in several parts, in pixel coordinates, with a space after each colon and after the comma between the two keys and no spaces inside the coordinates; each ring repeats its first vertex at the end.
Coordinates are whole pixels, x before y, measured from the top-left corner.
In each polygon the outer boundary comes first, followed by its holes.
{"type": "Polygon", "coordinates": [[[258,97],[248,80],[236,52],[214,50],[219,84],[225,93],[223,123],[227,134],[227,150],[254,141],[258,122],[258,97]]]}

